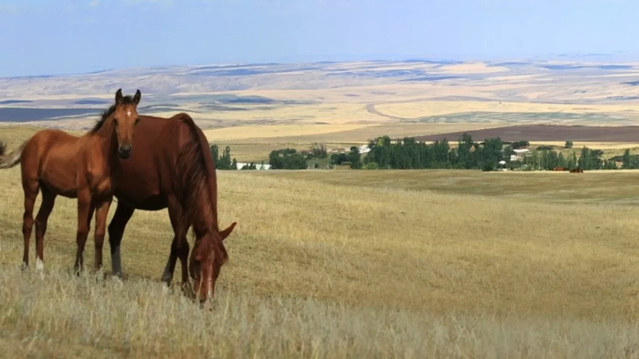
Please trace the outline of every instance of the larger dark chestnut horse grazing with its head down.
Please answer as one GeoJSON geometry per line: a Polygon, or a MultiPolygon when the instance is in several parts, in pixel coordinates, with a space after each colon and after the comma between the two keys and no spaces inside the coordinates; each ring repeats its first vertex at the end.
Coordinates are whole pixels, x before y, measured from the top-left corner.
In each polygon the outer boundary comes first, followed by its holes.
{"type": "Polygon", "coordinates": [[[208,142],[188,114],[139,118],[136,130],[144,136],[135,138],[131,158],[121,161],[122,178],[114,192],[118,204],[109,224],[113,275],[122,275],[120,243],[134,211],[167,208],[174,238],[162,280],[171,283],[179,257],[182,285],[188,285],[190,274],[194,293],[204,302],[213,296],[215,280],[228,257],[223,241],[236,224],[219,230],[217,179],[208,142]],[[196,240],[189,261],[190,226],[196,240]]]}

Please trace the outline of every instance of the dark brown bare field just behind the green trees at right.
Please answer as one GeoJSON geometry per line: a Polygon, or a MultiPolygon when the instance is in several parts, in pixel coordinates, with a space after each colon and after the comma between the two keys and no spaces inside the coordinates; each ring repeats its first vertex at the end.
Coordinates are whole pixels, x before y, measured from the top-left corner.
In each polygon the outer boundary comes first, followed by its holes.
{"type": "Polygon", "coordinates": [[[637,142],[639,126],[559,126],[521,125],[482,130],[449,132],[415,137],[417,141],[447,139],[457,141],[466,132],[475,141],[500,137],[502,141],[579,141],[579,142],[637,142]]]}

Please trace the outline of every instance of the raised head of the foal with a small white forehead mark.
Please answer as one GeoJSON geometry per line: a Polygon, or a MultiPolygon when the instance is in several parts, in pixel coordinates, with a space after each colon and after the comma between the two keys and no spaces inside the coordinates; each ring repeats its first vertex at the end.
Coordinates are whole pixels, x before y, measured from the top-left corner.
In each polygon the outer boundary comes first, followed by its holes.
{"type": "Polygon", "coordinates": [[[118,155],[120,158],[131,157],[133,150],[133,132],[139,118],[137,116],[137,104],[140,103],[142,94],[140,90],[135,91],[135,96],[122,96],[122,89],[116,92],[116,109],[112,119],[118,137],[118,155]]]}

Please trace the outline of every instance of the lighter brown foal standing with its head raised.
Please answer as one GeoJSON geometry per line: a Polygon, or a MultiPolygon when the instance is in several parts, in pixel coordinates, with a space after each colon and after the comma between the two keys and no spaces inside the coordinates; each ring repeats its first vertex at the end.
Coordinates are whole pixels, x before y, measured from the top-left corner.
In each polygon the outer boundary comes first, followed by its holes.
{"type": "Polygon", "coordinates": [[[122,96],[122,89],[118,89],[115,103],[102,114],[93,129],[81,137],[61,130],[41,130],[12,153],[0,156],[0,169],[20,164],[22,171],[24,268],[29,266],[29,240],[34,224],[33,206],[38,191],[42,192],[42,204],[35,219],[36,270],[42,271],[44,268],[43,240],[47,231],[47,220],[58,195],[77,198],[77,253],[74,265],[76,271],[81,270],[84,264],[84,244],[95,211],[95,268],[100,268],[112,190],[121,172],[120,158],[126,159],[132,154],[132,139],[134,126],[138,122],[137,104],[140,98],[140,90],[137,90],[132,98],[122,96]]]}

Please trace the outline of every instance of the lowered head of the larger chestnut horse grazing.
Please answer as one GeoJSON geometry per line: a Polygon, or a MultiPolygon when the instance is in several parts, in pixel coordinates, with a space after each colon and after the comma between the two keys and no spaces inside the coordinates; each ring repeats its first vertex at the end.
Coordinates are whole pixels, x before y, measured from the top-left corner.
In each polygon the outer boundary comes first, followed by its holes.
{"type": "Polygon", "coordinates": [[[189,274],[193,279],[194,295],[199,298],[200,303],[206,302],[207,298],[213,298],[215,280],[227,259],[223,241],[231,234],[236,224],[237,222],[233,222],[224,231],[206,233],[196,240],[189,260],[189,274]]]}

